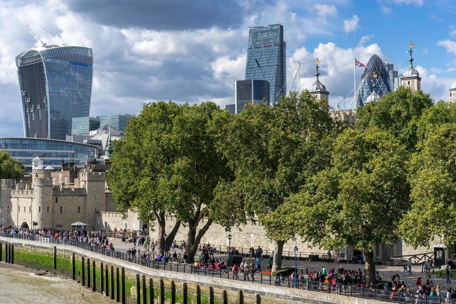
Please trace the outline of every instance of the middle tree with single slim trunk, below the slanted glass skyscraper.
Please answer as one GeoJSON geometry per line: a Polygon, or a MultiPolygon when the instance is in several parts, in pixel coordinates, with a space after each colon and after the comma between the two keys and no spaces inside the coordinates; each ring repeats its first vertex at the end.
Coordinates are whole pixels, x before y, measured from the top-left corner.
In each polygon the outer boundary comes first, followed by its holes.
{"type": "Polygon", "coordinates": [[[281,268],[284,243],[294,237],[292,229],[282,229],[274,211],[329,165],[340,124],[328,109],[327,102],[305,91],[282,98],[278,107],[249,104],[239,115],[222,113],[213,120],[217,150],[234,174],[215,189],[219,212],[214,217],[226,227],[258,217],[276,243],[273,271],[281,268]],[[220,214],[224,219],[217,218],[220,214]]]}

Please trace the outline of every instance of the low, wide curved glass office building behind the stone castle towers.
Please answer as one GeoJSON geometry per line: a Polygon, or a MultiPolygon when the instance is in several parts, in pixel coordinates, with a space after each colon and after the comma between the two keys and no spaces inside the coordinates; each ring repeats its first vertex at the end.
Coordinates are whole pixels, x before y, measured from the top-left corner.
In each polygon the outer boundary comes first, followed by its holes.
{"type": "Polygon", "coordinates": [[[46,166],[51,165],[55,169],[62,166],[62,159],[66,163],[73,160],[78,167],[87,165],[88,159],[103,161],[98,146],[56,139],[0,137],[0,150],[21,160],[27,172],[31,172],[31,160],[36,155],[44,160],[46,166]]]}

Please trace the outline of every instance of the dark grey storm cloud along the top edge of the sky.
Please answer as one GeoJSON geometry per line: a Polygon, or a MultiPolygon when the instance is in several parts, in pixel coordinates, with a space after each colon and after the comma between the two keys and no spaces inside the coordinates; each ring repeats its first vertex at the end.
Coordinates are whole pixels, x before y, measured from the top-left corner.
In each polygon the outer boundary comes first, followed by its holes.
{"type": "Polygon", "coordinates": [[[118,28],[180,31],[242,24],[245,7],[231,0],[65,0],[94,22],[118,28]]]}

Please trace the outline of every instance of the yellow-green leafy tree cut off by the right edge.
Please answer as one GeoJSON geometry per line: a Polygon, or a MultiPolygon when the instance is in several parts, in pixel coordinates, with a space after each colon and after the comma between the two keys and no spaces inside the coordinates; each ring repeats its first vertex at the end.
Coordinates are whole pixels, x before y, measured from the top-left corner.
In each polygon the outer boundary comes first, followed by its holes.
{"type": "Polygon", "coordinates": [[[444,123],[429,129],[411,161],[412,203],[399,230],[415,248],[429,247],[435,237],[447,244],[456,242],[455,128],[456,123],[444,123]]]}

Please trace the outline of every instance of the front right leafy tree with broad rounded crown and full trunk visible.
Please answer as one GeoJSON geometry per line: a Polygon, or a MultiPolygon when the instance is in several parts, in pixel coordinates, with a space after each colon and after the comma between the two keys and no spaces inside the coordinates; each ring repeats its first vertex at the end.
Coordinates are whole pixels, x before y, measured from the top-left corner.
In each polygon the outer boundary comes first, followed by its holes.
{"type": "Polygon", "coordinates": [[[347,130],[337,137],[332,167],[318,172],[290,197],[290,225],[324,248],[363,250],[366,282],[375,281],[373,246],[394,243],[409,203],[408,153],[389,132],[347,130]]]}

